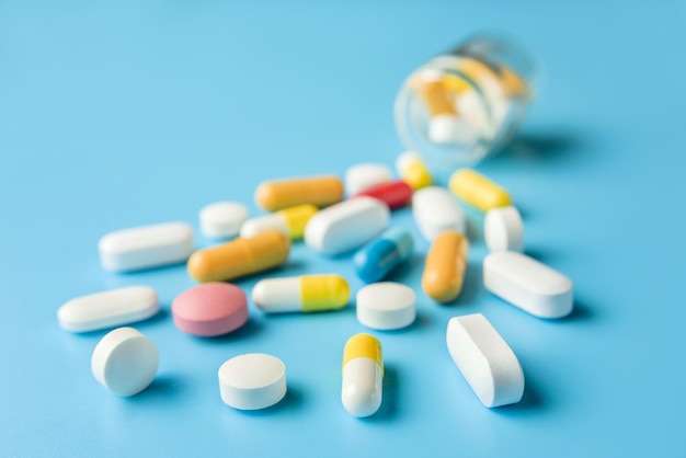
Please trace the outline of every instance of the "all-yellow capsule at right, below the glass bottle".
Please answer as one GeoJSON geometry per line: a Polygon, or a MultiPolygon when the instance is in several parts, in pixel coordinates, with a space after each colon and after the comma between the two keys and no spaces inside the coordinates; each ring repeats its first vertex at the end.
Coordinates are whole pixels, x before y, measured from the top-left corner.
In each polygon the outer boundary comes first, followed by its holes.
{"type": "Polygon", "coordinates": [[[507,191],[471,169],[460,169],[453,173],[448,187],[467,204],[482,211],[512,205],[507,191]]]}

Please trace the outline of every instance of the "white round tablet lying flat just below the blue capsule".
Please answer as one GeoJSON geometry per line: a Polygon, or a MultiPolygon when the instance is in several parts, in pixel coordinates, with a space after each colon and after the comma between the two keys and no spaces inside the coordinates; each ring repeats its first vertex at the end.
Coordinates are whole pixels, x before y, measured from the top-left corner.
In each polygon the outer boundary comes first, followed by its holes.
{"type": "Polygon", "coordinates": [[[373,283],[357,291],[357,321],[382,331],[412,324],[416,317],[412,288],[393,282],[373,283]]]}

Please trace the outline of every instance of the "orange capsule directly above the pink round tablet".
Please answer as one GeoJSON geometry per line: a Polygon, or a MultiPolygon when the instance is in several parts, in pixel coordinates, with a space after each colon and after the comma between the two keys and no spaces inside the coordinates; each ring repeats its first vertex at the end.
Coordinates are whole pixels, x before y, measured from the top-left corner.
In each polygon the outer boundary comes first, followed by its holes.
{"type": "Polygon", "coordinates": [[[278,230],[239,237],[198,250],[188,259],[188,274],[197,282],[226,282],[276,267],[286,262],[290,241],[278,230]]]}

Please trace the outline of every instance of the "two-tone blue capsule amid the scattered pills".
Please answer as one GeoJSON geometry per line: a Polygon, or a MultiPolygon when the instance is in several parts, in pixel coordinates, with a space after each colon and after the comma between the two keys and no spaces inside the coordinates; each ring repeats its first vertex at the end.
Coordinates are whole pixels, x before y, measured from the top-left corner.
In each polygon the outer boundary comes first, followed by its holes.
{"type": "Polygon", "coordinates": [[[353,265],[363,282],[378,282],[393,268],[409,261],[413,248],[414,239],[410,231],[389,228],[355,253],[353,265]]]}

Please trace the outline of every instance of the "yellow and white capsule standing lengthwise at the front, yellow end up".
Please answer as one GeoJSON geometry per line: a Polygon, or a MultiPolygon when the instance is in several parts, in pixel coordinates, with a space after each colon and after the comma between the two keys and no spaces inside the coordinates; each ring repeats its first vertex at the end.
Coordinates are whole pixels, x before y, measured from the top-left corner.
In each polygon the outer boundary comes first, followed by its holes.
{"type": "Polygon", "coordinates": [[[373,335],[355,334],[343,351],[341,401],[354,416],[373,415],[381,405],[384,358],[381,344],[373,335]]]}

